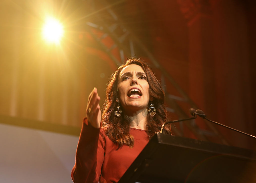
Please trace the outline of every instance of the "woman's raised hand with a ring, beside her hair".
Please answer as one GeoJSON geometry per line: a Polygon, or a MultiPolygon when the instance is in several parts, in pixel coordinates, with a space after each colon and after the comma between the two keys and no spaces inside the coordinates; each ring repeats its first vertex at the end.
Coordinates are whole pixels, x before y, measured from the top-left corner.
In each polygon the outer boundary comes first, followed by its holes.
{"type": "Polygon", "coordinates": [[[98,95],[97,88],[94,88],[88,98],[86,115],[88,122],[95,128],[100,128],[101,124],[101,110],[99,101],[100,97],[98,95]]]}

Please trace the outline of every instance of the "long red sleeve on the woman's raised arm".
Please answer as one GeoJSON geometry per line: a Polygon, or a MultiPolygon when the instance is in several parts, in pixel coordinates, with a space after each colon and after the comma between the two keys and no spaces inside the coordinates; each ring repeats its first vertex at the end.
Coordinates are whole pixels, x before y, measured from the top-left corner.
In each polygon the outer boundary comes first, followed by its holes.
{"type": "Polygon", "coordinates": [[[100,135],[100,128],[94,128],[84,118],[77,146],[76,163],[71,177],[75,183],[99,182],[104,161],[105,141],[100,135]]]}

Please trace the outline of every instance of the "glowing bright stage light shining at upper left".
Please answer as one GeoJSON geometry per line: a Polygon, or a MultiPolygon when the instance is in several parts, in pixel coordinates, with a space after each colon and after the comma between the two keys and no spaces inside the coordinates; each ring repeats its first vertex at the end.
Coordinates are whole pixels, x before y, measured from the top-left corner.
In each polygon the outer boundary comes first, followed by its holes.
{"type": "Polygon", "coordinates": [[[42,33],[47,42],[58,44],[63,36],[63,26],[55,18],[48,18],[42,33]]]}

